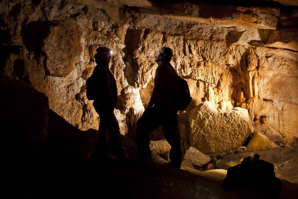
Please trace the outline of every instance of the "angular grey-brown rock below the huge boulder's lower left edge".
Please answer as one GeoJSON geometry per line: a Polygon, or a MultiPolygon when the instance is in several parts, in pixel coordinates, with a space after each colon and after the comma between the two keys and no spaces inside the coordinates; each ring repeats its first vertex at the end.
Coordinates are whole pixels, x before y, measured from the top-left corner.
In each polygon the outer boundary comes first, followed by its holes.
{"type": "Polygon", "coordinates": [[[194,147],[189,147],[185,152],[183,157],[182,165],[187,165],[189,162],[192,165],[203,166],[211,161],[211,158],[208,155],[201,153],[198,149],[194,147]]]}

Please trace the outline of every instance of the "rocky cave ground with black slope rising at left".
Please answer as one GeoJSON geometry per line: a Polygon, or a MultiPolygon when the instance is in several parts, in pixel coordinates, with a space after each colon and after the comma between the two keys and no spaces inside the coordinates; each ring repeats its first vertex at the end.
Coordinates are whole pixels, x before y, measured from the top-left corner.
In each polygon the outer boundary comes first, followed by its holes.
{"type": "MultiPolygon", "coordinates": [[[[135,158],[136,144],[123,136],[133,158],[120,162],[100,159],[96,130],[72,126],[49,109],[42,93],[21,81],[1,76],[0,84],[5,102],[0,104],[0,121],[6,130],[0,134],[1,198],[248,198],[224,191],[221,183],[225,169],[237,164],[239,155],[251,155],[252,149],[239,147],[227,155],[203,154],[190,147],[182,169],[177,170],[168,166],[170,147],[165,140],[151,141],[153,155],[148,163],[135,158]]],[[[283,182],[280,198],[295,198],[297,149],[254,152],[274,164],[276,176],[283,182]]]]}

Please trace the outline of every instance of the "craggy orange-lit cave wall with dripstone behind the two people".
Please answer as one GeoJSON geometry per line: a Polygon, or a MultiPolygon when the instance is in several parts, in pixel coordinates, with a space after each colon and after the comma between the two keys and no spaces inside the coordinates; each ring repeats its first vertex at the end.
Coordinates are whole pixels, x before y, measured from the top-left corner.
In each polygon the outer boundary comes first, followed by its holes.
{"type": "Polygon", "coordinates": [[[171,64],[193,97],[179,114],[185,148],[190,146],[189,113],[206,100],[222,110],[247,109],[256,130],[290,147],[298,137],[295,8],[5,0],[0,9],[5,30],[12,44],[22,47],[2,73],[45,93],[50,109],[75,127],[98,129],[86,80],[95,67],[95,49],[111,48],[119,94],[115,113],[121,133],[133,140],[154,85],[154,55],[168,46],[174,51],[171,64]]]}

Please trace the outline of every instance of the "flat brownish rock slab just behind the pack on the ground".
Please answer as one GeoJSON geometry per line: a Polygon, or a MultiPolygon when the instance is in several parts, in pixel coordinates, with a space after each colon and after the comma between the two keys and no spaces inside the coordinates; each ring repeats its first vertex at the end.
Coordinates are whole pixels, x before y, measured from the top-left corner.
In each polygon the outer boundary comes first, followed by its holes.
{"type": "Polygon", "coordinates": [[[217,168],[227,169],[240,164],[239,158],[260,155],[260,159],[274,165],[275,176],[291,183],[298,183],[298,149],[296,148],[271,148],[263,151],[243,152],[233,155],[225,155],[216,164],[217,168]]]}

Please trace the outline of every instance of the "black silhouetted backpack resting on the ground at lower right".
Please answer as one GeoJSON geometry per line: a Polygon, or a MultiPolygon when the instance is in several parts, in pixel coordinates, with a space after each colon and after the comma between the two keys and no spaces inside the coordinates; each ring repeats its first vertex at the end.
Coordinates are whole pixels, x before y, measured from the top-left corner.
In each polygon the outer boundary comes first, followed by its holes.
{"type": "Polygon", "coordinates": [[[241,164],[228,168],[222,183],[224,190],[251,198],[279,198],[282,182],[275,177],[273,164],[259,157],[245,157],[241,164]]]}

